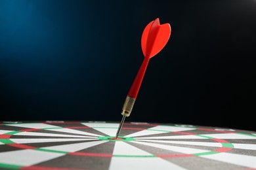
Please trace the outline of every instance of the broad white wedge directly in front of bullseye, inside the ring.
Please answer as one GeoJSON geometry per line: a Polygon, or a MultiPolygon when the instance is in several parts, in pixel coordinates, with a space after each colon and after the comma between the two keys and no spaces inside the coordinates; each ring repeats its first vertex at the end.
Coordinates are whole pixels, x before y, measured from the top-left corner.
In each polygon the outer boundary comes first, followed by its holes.
{"type": "Polygon", "coordinates": [[[136,156],[153,156],[152,154],[141,150],[135,146],[132,146],[131,144],[127,144],[124,142],[116,142],[115,143],[115,147],[114,147],[114,151],[113,151],[114,155],[136,155],[136,156]]]}

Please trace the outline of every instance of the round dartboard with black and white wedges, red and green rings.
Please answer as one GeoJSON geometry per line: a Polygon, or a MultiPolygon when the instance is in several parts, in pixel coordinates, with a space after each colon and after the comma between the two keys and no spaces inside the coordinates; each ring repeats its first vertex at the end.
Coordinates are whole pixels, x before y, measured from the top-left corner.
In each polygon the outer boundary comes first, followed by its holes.
{"type": "Polygon", "coordinates": [[[256,132],[127,122],[0,122],[0,169],[256,169],[256,132]]]}

